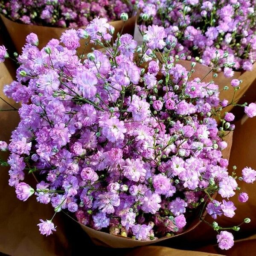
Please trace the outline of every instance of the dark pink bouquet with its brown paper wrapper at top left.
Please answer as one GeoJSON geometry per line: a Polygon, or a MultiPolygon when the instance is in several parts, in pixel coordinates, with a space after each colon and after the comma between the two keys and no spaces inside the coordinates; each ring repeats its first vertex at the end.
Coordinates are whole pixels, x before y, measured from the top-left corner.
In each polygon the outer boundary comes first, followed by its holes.
{"type": "MultiPolygon", "coordinates": [[[[0,0],[0,14],[19,53],[31,32],[38,35],[38,47],[42,49],[52,38],[60,38],[67,28],[85,28],[97,16],[104,17],[113,26],[114,39],[121,30],[133,33],[135,23],[131,4],[126,0],[0,0]],[[122,13],[128,14],[125,26],[122,13]]],[[[91,47],[86,40],[81,40],[79,53],[87,53],[91,47]]]]}

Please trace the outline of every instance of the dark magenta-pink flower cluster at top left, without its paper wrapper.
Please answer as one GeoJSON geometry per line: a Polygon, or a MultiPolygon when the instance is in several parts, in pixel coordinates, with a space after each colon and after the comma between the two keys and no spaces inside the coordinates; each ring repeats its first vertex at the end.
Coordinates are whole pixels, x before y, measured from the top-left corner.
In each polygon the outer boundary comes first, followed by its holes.
{"type": "Polygon", "coordinates": [[[0,13],[24,24],[79,27],[87,26],[93,18],[120,20],[123,13],[131,15],[125,0],[0,0],[0,13]]]}

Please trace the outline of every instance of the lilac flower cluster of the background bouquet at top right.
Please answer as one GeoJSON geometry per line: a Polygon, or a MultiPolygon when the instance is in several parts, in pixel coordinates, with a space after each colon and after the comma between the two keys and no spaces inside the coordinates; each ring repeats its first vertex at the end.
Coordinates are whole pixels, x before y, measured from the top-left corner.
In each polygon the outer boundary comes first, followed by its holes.
{"type": "Polygon", "coordinates": [[[143,23],[166,28],[166,42],[175,45],[173,55],[184,53],[183,58],[214,67],[216,57],[227,54],[221,62],[227,77],[233,76],[233,70],[252,70],[255,1],[140,0],[137,8],[143,23]]]}

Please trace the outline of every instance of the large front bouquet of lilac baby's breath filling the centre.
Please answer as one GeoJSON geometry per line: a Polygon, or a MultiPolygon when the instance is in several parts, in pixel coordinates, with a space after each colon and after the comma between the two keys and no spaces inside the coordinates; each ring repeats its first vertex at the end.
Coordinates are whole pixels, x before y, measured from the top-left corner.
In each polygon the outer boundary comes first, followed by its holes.
{"type": "MultiPolygon", "coordinates": [[[[206,214],[232,218],[236,207],[229,198],[236,192],[247,201],[238,182],[253,182],[256,171],[245,168],[237,177],[234,167],[228,173],[222,151],[235,128],[234,115],[225,112],[220,119],[225,102],[209,79],[212,69],[202,74],[195,62],[181,62],[183,55],[173,58],[164,28],[157,28],[146,30],[147,40],[137,47],[128,34],[112,41],[111,26],[96,18],[84,34],[103,50],[87,58],[77,55],[73,30],[41,50],[35,35],[27,37],[17,57],[17,81],[4,88],[22,105],[9,145],[0,143],[10,151],[1,164],[10,166],[9,185],[17,198],[35,195],[52,204],[52,218],[38,224],[42,234],[56,230],[54,216],[64,211],[94,241],[135,247],[183,234],[206,214]],[[35,188],[24,182],[27,175],[37,178],[35,188]],[[214,199],[216,193],[222,201],[214,199]]],[[[7,57],[1,47],[0,59],[7,57]]],[[[241,107],[256,116],[254,103],[241,107]]],[[[207,224],[217,231],[221,249],[234,242],[227,230],[241,225],[207,224]]]]}

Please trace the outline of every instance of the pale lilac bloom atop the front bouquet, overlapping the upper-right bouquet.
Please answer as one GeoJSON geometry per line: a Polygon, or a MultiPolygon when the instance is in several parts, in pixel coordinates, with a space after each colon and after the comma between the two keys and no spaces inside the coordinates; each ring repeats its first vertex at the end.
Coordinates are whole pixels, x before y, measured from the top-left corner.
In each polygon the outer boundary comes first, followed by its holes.
{"type": "Polygon", "coordinates": [[[166,36],[164,27],[157,25],[148,26],[148,30],[145,31],[144,35],[150,49],[163,49],[166,45],[163,39],[166,38],[166,36]]]}

